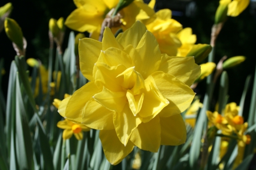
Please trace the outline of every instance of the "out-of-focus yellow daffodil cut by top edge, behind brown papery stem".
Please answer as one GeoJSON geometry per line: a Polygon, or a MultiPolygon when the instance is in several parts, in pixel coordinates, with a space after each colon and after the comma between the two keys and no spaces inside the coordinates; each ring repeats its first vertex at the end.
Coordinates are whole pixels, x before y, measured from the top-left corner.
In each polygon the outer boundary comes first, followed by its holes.
{"type": "MultiPolygon", "coordinates": [[[[74,2],[77,9],[68,16],[65,25],[79,32],[88,31],[92,39],[98,39],[106,14],[117,6],[118,0],[74,0],[74,2]]],[[[123,29],[133,25],[141,9],[148,14],[147,16],[154,15],[154,11],[141,0],[135,0],[119,12],[123,29]]]]}

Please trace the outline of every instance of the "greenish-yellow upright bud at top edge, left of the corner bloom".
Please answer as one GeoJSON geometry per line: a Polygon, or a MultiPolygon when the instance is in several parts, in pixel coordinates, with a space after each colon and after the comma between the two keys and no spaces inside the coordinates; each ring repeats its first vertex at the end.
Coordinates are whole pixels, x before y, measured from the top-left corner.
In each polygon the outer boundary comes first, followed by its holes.
{"type": "Polygon", "coordinates": [[[228,12],[228,5],[231,2],[231,0],[221,0],[220,5],[217,8],[216,14],[215,14],[215,24],[222,23],[228,18],[226,15],[228,12]]]}

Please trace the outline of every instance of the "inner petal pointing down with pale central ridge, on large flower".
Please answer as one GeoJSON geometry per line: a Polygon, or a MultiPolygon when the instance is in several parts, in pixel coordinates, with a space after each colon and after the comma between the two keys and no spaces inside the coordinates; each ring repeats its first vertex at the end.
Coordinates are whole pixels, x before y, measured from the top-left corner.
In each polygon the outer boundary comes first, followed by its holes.
{"type": "Polygon", "coordinates": [[[141,117],[134,116],[129,105],[126,104],[121,113],[114,113],[113,118],[117,136],[123,145],[126,146],[133,130],[141,124],[141,117]]]}

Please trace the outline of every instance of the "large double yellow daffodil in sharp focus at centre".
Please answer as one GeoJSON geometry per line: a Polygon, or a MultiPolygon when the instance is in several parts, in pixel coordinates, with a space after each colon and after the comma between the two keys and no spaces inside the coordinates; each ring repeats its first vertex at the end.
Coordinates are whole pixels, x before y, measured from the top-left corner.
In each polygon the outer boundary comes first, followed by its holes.
{"type": "Polygon", "coordinates": [[[134,146],[157,152],[160,145],[185,142],[180,113],[191,104],[190,86],[200,74],[193,57],[161,54],[141,22],[117,39],[108,27],[102,42],[81,39],[79,56],[90,82],[61,101],[59,113],[101,130],[110,163],[121,162],[134,146]]]}

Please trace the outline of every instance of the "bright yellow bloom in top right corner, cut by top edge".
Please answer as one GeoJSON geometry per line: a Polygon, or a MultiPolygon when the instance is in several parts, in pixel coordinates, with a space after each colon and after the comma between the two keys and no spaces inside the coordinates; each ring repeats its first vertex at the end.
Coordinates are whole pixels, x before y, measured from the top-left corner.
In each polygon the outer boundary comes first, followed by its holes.
{"type": "Polygon", "coordinates": [[[228,16],[238,16],[249,5],[250,0],[233,0],[228,5],[228,16]]]}

